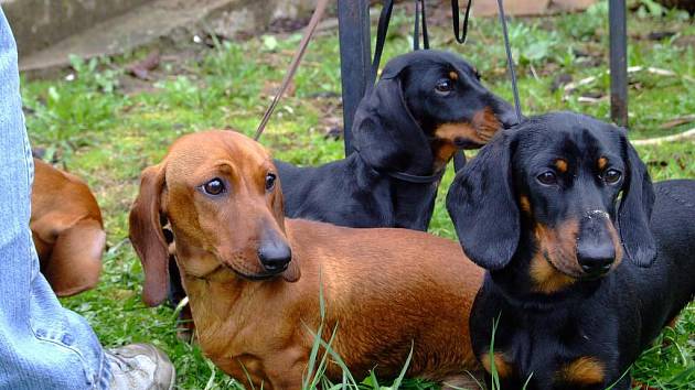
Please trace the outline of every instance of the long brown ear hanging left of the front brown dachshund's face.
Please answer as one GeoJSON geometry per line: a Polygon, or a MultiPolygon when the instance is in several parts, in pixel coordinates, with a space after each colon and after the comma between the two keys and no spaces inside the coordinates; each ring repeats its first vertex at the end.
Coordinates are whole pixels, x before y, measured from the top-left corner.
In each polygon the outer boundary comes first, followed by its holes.
{"type": "Polygon", "coordinates": [[[142,301],[157,306],[167,299],[169,253],[160,223],[163,163],[142,171],[140,193],[130,208],[130,242],[142,262],[142,301]]]}

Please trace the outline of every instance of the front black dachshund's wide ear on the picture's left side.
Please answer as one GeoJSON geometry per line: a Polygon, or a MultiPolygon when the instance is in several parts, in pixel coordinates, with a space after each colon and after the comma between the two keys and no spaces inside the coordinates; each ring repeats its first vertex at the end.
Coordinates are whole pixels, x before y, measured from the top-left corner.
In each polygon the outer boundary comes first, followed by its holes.
{"type": "Polygon", "coordinates": [[[463,252],[478,266],[505,267],[518,245],[520,214],[512,192],[511,136],[499,133],[456,175],[447,194],[463,252]]]}

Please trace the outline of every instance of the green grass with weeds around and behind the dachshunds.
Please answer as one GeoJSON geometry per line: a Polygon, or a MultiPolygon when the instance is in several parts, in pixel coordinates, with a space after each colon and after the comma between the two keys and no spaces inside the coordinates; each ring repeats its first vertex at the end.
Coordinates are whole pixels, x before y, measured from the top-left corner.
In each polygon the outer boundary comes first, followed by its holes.
{"type": "MultiPolygon", "coordinates": [[[[629,17],[629,65],[667,69],[663,76],[645,71],[630,77],[630,129],[633,139],[686,130],[661,126],[695,112],[695,26],[686,15],[649,13],[650,1],[629,17]],[[648,33],[674,34],[657,41],[648,33]]],[[[435,21],[436,18],[430,18],[435,21]]],[[[511,101],[504,47],[496,19],[473,18],[469,41],[452,40],[448,19],[431,25],[431,46],[456,51],[474,64],[490,89],[511,101]]],[[[511,43],[518,63],[522,108],[526,115],[570,109],[609,119],[608,15],[606,2],[584,13],[544,19],[514,19],[511,43]],[[560,74],[576,80],[596,77],[571,94],[553,90],[560,74]],[[598,99],[582,102],[581,96],[598,99]]],[[[396,7],[384,61],[410,47],[411,15],[396,7]]],[[[133,91],[122,64],[143,57],[139,51],[117,58],[82,61],[62,78],[22,83],[26,126],[34,147],[46,149],[95,192],[105,216],[109,249],[98,288],[62,302],[84,315],[107,346],[148,342],[164,349],[179,372],[180,389],[236,388],[238,383],[215,369],[199,348],[175,337],[174,312],[148,308],[140,301],[142,271],[127,241],[127,213],[135,198],[140,171],[158,162],[181,134],[207,128],[234,128],[252,134],[271,93],[299,42],[298,34],[259,36],[245,42],[221,42],[214,47],[184,45],[154,73],[145,91],[133,91]],[[72,76],[70,76],[72,74],[72,76]]],[[[342,140],[325,138],[325,129],[341,122],[338,32],[318,36],[309,47],[295,91],[278,107],[261,142],[277,158],[319,164],[340,159],[342,140]]],[[[639,148],[654,180],[695,177],[692,142],[639,148]]],[[[452,172],[447,172],[430,231],[455,238],[443,207],[452,172]]],[[[660,389],[692,389],[695,382],[695,305],[687,307],[675,328],[666,329],[654,347],[633,366],[632,375],[660,389]]],[[[318,353],[317,353],[318,354],[318,353]]],[[[320,364],[322,357],[314,356],[320,364]]],[[[320,365],[318,365],[320,368],[320,365]]],[[[357,381],[362,378],[356,378],[357,381]]],[[[339,383],[340,384],[340,383],[339,383]]],[[[366,378],[364,388],[379,388],[366,378]]],[[[381,384],[383,387],[383,383],[381,384]]],[[[404,379],[402,388],[434,384],[404,379]]],[[[331,388],[331,386],[324,386],[331,388]]]]}

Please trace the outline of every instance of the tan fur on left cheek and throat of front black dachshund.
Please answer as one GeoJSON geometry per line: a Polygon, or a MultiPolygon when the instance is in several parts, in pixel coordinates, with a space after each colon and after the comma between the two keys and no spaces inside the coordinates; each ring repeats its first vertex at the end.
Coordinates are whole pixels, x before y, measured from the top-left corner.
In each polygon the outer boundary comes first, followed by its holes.
{"type": "Polygon", "coordinates": [[[552,294],[581,275],[575,249],[578,229],[576,220],[569,220],[555,229],[536,224],[537,250],[530,267],[535,291],[552,294]]]}

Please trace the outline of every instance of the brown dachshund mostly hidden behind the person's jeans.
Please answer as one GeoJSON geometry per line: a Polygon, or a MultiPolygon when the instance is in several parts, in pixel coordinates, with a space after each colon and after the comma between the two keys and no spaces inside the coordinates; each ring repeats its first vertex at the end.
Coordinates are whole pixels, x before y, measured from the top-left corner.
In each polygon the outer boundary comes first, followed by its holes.
{"type": "Polygon", "coordinates": [[[30,227],[41,272],[58,296],[94,288],[101,272],[106,234],[89,187],[34,159],[30,227]]]}

